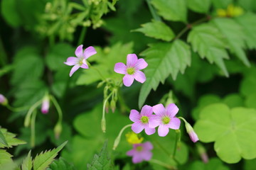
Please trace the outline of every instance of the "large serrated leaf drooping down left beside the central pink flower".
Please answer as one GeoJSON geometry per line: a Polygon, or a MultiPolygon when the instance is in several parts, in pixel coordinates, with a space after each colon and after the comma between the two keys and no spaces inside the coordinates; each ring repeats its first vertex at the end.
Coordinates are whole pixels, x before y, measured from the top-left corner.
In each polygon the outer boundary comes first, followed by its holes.
{"type": "Polygon", "coordinates": [[[145,69],[146,81],[139,93],[139,107],[146,101],[151,89],[156,90],[159,83],[164,81],[171,74],[176,79],[178,72],[185,72],[191,64],[191,52],[189,46],[181,41],[175,40],[172,43],[156,43],[149,45],[149,48],[142,52],[149,64],[145,69]]]}

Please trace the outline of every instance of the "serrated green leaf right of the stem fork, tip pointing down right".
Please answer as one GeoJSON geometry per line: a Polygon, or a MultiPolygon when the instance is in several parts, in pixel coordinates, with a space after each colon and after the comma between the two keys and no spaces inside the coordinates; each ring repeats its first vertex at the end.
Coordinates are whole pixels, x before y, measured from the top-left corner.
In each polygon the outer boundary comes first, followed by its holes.
{"type": "Polygon", "coordinates": [[[194,52],[198,52],[201,58],[206,57],[220,67],[226,77],[228,71],[224,64],[224,59],[228,59],[228,52],[225,50],[225,42],[218,29],[206,23],[192,28],[188,34],[188,42],[191,42],[194,52]]]}

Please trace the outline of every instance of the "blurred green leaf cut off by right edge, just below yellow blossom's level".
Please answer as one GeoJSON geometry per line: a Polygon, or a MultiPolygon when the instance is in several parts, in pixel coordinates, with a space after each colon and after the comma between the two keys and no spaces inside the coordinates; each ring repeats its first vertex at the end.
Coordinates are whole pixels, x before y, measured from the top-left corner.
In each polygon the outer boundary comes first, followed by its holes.
{"type": "Polygon", "coordinates": [[[250,49],[256,49],[256,15],[255,13],[245,13],[245,15],[235,18],[245,33],[245,42],[250,49]]]}

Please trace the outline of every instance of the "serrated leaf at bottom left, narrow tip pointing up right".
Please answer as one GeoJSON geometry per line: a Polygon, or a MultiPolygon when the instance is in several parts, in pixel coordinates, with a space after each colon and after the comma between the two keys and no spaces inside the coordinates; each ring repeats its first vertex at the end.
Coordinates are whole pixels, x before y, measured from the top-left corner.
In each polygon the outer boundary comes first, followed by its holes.
{"type": "Polygon", "coordinates": [[[33,169],[34,170],[44,170],[46,169],[51,162],[53,162],[54,158],[57,156],[58,152],[67,144],[68,141],[64,142],[62,145],[57,147],[56,149],[41,152],[41,154],[36,155],[36,158],[33,160],[33,169]]]}

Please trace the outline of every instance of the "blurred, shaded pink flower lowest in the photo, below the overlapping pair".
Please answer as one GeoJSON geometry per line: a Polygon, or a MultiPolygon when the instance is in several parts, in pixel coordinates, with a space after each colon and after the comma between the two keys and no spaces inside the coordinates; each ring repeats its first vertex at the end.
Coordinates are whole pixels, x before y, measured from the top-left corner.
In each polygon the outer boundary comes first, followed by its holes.
{"type": "Polygon", "coordinates": [[[149,161],[152,157],[151,149],[153,149],[153,145],[151,142],[144,142],[141,144],[134,144],[132,150],[127,152],[128,156],[132,157],[132,162],[137,164],[142,162],[143,160],[149,161]]]}

